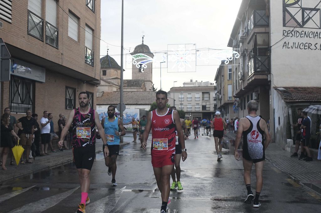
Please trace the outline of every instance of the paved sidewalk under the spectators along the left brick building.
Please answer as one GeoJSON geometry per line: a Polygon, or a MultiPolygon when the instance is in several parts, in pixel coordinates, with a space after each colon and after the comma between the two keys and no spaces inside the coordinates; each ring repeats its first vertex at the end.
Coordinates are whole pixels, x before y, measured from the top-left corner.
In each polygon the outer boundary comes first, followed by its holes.
{"type": "MultiPolygon", "coordinates": [[[[124,136],[124,143],[120,147],[128,145],[133,137],[124,136]]],[[[96,141],[96,154],[102,152],[101,139],[96,141]]],[[[64,152],[51,153],[48,156],[36,157],[33,163],[25,163],[11,166],[10,159],[7,160],[7,170],[0,170],[0,183],[6,180],[14,180],[19,177],[24,177],[42,170],[52,169],[70,162],[73,162],[72,150],[64,150],[64,152]]],[[[15,162],[15,161],[14,161],[15,162]]]]}

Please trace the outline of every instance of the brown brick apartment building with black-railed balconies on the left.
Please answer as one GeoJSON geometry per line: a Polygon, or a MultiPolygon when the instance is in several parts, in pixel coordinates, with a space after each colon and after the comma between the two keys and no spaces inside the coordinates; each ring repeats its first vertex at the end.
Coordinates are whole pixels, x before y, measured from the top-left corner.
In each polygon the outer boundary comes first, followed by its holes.
{"type": "Polygon", "coordinates": [[[100,0],[0,0],[0,37],[11,54],[11,79],[1,82],[0,111],[68,115],[88,91],[96,105],[100,79],[100,0]]]}

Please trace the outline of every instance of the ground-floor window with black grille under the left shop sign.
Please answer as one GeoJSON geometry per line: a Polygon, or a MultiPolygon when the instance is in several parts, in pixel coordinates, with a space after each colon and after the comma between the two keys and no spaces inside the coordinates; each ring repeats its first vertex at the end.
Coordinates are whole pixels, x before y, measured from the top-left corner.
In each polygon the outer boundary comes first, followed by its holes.
{"type": "Polygon", "coordinates": [[[11,112],[25,113],[27,109],[34,112],[34,91],[34,81],[11,75],[9,92],[11,112]]]}

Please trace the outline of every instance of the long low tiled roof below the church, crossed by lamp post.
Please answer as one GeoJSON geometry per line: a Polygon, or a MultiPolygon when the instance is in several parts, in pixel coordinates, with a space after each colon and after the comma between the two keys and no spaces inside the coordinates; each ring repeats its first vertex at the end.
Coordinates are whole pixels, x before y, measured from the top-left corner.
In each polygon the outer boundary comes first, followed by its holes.
{"type": "MultiPolygon", "coordinates": [[[[146,105],[152,104],[156,99],[155,91],[124,91],[124,104],[146,105]]],[[[97,104],[118,104],[120,102],[120,92],[104,92],[101,97],[97,97],[97,104]]]]}

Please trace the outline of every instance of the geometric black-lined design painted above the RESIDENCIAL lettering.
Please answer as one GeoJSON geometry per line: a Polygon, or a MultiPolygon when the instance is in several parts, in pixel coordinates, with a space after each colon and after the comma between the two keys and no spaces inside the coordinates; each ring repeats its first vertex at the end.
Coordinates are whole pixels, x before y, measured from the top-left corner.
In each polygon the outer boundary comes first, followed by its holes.
{"type": "Polygon", "coordinates": [[[321,12],[311,0],[283,0],[283,27],[321,29],[321,12]]]}

